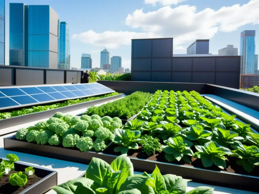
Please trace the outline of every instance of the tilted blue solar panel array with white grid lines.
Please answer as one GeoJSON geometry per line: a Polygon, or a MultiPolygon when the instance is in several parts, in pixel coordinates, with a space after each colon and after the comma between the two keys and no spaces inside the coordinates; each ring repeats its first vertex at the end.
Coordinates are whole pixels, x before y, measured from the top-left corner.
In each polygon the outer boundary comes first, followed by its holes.
{"type": "Polygon", "coordinates": [[[98,83],[0,87],[0,110],[115,92],[98,83]]]}

